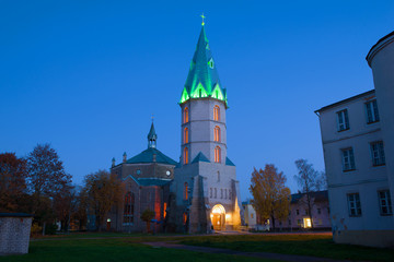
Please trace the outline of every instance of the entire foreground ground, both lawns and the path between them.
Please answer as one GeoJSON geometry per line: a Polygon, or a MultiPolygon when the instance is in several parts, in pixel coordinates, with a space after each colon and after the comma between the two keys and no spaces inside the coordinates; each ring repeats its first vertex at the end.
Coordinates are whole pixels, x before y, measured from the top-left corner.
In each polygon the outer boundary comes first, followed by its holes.
{"type": "Polygon", "coordinates": [[[336,245],[331,234],[209,236],[70,234],[32,239],[28,254],[0,257],[0,262],[154,260],[394,261],[394,250],[336,245]]]}

